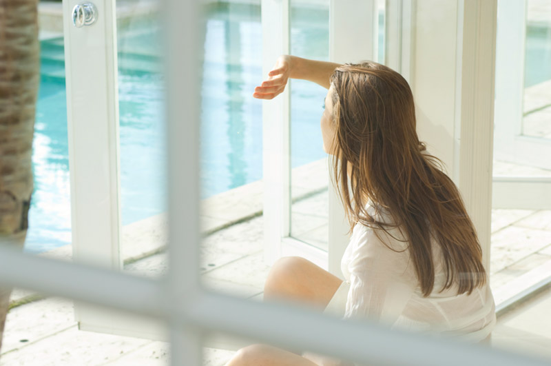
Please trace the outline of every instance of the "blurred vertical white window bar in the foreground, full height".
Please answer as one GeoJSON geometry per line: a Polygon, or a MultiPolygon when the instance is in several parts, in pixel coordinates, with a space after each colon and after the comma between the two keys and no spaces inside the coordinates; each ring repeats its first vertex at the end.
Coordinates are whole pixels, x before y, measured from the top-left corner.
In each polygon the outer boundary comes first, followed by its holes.
{"type": "Polygon", "coordinates": [[[194,327],[178,324],[178,309],[191,307],[199,278],[199,126],[204,16],[200,1],[165,1],[169,272],[166,278],[171,365],[202,365],[194,327]],[[184,37],[183,37],[184,35],[184,37]]]}

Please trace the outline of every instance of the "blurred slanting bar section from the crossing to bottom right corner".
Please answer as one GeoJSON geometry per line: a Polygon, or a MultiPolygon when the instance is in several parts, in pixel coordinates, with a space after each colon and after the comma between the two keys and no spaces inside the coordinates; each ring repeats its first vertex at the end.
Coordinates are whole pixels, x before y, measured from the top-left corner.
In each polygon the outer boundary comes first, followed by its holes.
{"type": "Polygon", "coordinates": [[[205,292],[181,314],[211,331],[227,332],[294,351],[309,350],[368,365],[543,366],[547,360],[391,330],[377,323],[342,321],[289,304],[258,303],[205,292]],[[398,352],[395,352],[398,350],[398,352]]]}

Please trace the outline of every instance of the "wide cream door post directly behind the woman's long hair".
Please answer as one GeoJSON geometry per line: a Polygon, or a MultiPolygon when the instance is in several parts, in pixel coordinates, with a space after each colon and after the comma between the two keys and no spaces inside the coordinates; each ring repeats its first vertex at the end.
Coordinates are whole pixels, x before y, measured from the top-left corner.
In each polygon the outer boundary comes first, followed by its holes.
{"type": "Polygon", "coordinates": [[[414,4],[417,132],[458,185],[489,270],[497,0],[414,4]]]}

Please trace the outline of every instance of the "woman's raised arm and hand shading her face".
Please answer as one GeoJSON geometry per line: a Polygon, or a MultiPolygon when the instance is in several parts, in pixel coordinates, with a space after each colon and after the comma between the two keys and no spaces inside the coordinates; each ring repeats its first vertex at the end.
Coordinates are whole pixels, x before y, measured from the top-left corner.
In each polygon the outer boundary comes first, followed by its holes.
{"type": "Polygon", "coordinates": [[[313,81],[329,89],[329,77],[338,66],[340,63],[302,59],[284,54],[275,62],[268,79],[255,88],[253,96],[258,99],[273,99],[283,92],[289,78],[313,81]]]}

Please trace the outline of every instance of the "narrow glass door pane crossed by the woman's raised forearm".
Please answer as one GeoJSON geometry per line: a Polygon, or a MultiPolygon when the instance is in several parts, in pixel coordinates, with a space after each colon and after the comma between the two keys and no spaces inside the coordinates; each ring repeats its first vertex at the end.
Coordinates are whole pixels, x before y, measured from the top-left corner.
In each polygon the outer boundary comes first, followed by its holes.
{"type": "MultiPolygon", "coordinates": [[[[329,61],[329,2],[291,1],[291,54],[329,61]]],[[[327,154],[320,118],[327,90],[291,80],[291,236],[327,250],[327,154]]]]}

